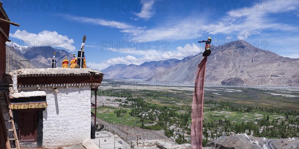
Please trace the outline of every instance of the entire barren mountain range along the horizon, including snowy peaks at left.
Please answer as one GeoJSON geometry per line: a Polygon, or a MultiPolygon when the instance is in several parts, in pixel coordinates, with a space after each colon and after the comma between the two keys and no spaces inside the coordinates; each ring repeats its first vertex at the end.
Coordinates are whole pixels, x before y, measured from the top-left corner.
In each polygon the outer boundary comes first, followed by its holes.
{"type": "MultiPolygon", "coordinates": [[[[13,42],[6,43],[6,60],[9,56],[9,70],[28,68],[50,68],[53,53],[56,52],[57,67],[65,56],[72,54],[52,47],[25,47],[13,42]],[[20,66],[21,65],[21,66],[20,66]]],[[[148,81],[194,82],[197,65],[202,53],[182,60],[169,59],[145,62],[141,65],[117,64],[101,72],[105,78],[143,79],[148,81]]],[[[6,65],[8,61],[6,61],[6,65]]],[[[212,46],[208,57],[205,81],[222,85],[299,85],[299,59],[279,56],[271,51],[261,50],[239,40],[220,46],[212,46]]],[[[6,69],[7,70],[7,69],[6,69]]]]}

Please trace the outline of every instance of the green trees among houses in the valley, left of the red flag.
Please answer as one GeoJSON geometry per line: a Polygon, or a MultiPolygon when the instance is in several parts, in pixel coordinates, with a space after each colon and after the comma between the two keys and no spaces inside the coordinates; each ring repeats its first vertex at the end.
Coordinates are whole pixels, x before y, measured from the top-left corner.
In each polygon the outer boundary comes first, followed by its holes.
{"type": "MultiPolygon", "coordinates": [[[[190,128],[187,128],[188,121],[191,118],[191,107],[174,107],[174,106],[159,106],[144,102],[142,98],[127,98],[127,101],[132,101],[132,105],[123,105],[131,108],[129,114],[132,117],[140,117],[142,122],[141,128],[149,130],[164,130],[165,136],[173,137],[174,130],[169,130],[168,127],[176,124],[176,126],[184,128],[190,134],[190,128]],[[178,110],[187,111],[178,113],[178,110]],[[150,111],[150,112],[149,112],[150,111]],[[143,115],[144,114],[144,115],[143,115]],[[144,120],[151,122],[158,120],[155,125],[145,126],[144,120]]],[[[125,101],[124,101],[125,102],[125,101]]],[[[176,140],[180,140],[179,138],[176,140]]],[[[186,140],[177,141],[185,143],[186,140]]]]}

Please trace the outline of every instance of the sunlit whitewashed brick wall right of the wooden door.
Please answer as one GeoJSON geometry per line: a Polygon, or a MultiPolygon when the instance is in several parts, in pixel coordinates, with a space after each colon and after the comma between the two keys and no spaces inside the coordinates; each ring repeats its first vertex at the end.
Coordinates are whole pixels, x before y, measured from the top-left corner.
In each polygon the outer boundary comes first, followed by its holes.
{"type": "Polygon", "coordinates": [[[90,86],[41,87],[46,92],[43,111],[43,147],[66,147],[90,139],[90,86]]]}

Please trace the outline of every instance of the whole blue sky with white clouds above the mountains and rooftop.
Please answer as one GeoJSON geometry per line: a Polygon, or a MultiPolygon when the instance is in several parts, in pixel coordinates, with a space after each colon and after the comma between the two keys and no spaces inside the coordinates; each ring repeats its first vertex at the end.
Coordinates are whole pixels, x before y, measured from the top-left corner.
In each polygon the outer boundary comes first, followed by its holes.
{"type": "MultiPolygon", "coordinates": [[[[87,65],[182,59],[213,45],[245,40],[299,58],[299,0],[1,0],[11,41],[72,53],[87,36],[87,65]]],[[[52,56],[49,56],[52,57],[52,56]]]]}

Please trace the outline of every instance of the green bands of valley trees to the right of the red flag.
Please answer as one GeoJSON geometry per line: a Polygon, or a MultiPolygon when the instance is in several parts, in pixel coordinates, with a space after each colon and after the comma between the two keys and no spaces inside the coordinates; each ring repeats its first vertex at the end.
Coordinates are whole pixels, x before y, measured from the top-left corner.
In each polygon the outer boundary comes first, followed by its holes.
{"type": "MultiPolygon", "coordinates": [[[[234,132],[234,133],[244,133],[245,130],[249,130],[248,135],[250,135],[251,131],[254,132],[254,136],[256,137],[266,137],[266,138],[288,138],[288,137],[299,137],[299,112],[294,110],[278,110],[274,108],[265,108],[265,107],[253,107],[253,106],[240,106],[227,102],[217,102],[217,101],[207,101],[206,104],[213,105],[210,110],[224,110],[229,109],[232,112],[268,112],[268,113],[276,113],[280,115],[285,115],[286,120],[284,119],[275,119],[271,120],[269,115],[264,115],[263,119],[257,119],[255,122],[258,124],[254,124],[253,121],[242,122],[241,124],[235,124],[230,122],[227,119],[219,119],[217,121],[203,121],[203,127],[206,130],[211,130],[211,136],[217,133],[217,131],[221,132],[234,132]],[[260,128],[266,126],[265,130],[261,130],[260,128]],[[297,127],[296,127],[297,126],[297,127]]],[[[208,133],[204,131],[204,136],[207,136],[208,133]]],[[[226,133],[225,135],[230,135],[230,133],[226,133]]],[[[217,134],[216,137],[222,136],[221,134],[217,134]]]]}

